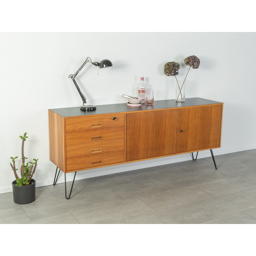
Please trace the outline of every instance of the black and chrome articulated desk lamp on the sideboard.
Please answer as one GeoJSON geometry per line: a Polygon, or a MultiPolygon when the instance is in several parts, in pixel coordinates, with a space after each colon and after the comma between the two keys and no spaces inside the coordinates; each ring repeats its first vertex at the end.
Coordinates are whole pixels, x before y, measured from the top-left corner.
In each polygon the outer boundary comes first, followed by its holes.
{"type": "Polygon", "coordinates": [[[81,69],[84,67],[84,65],[90,62],[92,63],[94,66],[99,67],[99,68],[108,68],[108,67],[112,67],[112,62],[110,60],[101,60],[100,62],[92,62],[92,59],[87,57],[86,60],[84,61],[83,65],[76,71],[76,73],[74,75],[69,75],[68,77],[72,78],[72,81],[74,82],[77,91],[79,92],[82,100],[83,100],[83,105],[80,107],[81,110],[84,111],[92,111],[92,110],[96,110],[96,106],[92,106],[92,105],[84,105],[86,104],[86,98],[84,97],[84,94],[81,92],[81,90],[79,89],[78,85],[76,84],[76,80],[75,77],[76,75],[81,71],[81,69]]]}

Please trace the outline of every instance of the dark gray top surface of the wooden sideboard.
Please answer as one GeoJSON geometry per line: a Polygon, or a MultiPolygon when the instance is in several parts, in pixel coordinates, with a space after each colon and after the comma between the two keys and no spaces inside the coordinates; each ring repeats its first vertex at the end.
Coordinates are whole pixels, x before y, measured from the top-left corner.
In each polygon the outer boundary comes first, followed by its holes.
{"type": "MultiPolygon", "coordinates": [[[[128,102],[128,101],[127,101],[128,102]]],[[[161,109],[161,108],[181,108],[208,104],[221,103],[213,100],[206,100],[202,98],[188,98],[185,102],[176,102],[175,100],[156,100],[153,105],[141,104],[139,107],[128,106],[127,103],[120,104],[109,104],[109,105],[98,105],[94,111],[83,111],[80,107],[74,108],[54,108],[50,109],[54,113],[63,116],[89,116],[89,115],[100,115],[108,113],[120,113],[138,110],[150,110],[150,109],[161,109]]]]}

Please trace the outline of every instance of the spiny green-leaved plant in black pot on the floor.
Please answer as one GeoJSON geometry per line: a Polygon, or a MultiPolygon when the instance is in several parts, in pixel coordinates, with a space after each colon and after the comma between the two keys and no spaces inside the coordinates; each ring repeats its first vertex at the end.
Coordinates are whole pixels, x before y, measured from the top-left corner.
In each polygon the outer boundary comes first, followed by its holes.
{"type": "Polygon", "coordinates": [[[18,156],[12,157],[12,162],[10,163],[12,167],[12,171],[14,172],[14,176],[16,180],[12,181],[12,192],[13,192],[13,201],[16,204],[29,204],[36,200],[36,180],[32,179],[38,159],[33,159],[34,162],[27,162],[25,164],[25,160],[28,157],[24,156],[24,142],[28,138],[27,132],[24,133],[23,136],[20,136],[21,142],[21,161],[22,164],[20,166],[20,175],[19,178],[17,174],[16,166],[15,166],[15,159],[18,156]],[[28,165],[31,164],[31,165],[28,165]]]}

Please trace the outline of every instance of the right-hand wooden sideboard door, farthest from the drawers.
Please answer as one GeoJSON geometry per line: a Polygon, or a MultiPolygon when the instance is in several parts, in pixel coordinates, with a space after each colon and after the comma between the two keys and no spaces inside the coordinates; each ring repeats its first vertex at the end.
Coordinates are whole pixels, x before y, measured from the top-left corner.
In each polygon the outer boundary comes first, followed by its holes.
{"type": "Polygon", "coordinates": [[[179,109],[176,153],[220,147],[221,120],[222,105],[179,109]]]}

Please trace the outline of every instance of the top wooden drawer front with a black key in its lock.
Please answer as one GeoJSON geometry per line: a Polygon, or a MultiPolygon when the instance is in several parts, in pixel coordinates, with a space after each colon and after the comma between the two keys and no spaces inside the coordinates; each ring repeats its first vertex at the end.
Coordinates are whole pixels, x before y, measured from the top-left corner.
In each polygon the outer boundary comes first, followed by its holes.
{"type": "Polygon", "coordinates": [[[66,132],[124,126],[124,114],[66,119],[66,132]]]}

